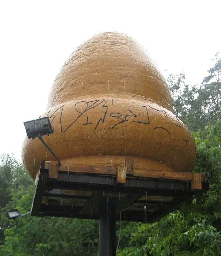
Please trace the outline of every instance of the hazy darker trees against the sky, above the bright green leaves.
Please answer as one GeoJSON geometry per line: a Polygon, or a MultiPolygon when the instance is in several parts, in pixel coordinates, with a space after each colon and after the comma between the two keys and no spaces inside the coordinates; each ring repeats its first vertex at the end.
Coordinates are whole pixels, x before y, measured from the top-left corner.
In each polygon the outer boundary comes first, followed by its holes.
{"type": "Polygon", "coordinates": [[[214,66],[201,86],[186,84],[185,74],[170,74],[167,78],[174,111],[191,131],[204,130],[220,118],[221,58],[215,55],[214,66]]]}

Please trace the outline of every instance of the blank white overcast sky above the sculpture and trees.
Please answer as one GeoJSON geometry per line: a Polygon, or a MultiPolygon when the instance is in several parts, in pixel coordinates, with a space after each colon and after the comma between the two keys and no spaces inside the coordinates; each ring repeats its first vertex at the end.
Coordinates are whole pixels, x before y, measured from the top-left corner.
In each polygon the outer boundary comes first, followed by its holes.
{"type": "Polygon", "coordinates": [[[161,70],[200,84],[221,50],[221,1],[0,2],[0,154],[21,159],[24,121],[45,110],[71,52],[103,31],[135,38],[161,70]]]}

